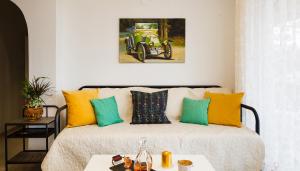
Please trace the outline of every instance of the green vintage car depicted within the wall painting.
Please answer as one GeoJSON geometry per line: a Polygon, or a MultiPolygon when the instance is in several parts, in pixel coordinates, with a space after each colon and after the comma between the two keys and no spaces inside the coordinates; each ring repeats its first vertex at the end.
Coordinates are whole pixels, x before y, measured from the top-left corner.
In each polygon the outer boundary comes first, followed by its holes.
{"type": "Polygon", "coordinates": [[[141,62],[149,56],[160,54],[166,59],[172,58],[171,41],[159,39],[158,23],[135,23],[130,32],[129,37],[125,38],[128,55],[136,55],[141,62]]]}

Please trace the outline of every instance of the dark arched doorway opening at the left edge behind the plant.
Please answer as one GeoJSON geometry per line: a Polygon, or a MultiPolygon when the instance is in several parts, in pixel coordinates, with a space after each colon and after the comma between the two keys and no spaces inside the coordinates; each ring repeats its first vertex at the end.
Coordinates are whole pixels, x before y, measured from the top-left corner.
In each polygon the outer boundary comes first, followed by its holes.
{"type": "Polygon", "coordinates": [[[0,133],[4,123],[22,117],[22,82],[28,76],[28,30],[21,10],[0,0],[0,133]]]}

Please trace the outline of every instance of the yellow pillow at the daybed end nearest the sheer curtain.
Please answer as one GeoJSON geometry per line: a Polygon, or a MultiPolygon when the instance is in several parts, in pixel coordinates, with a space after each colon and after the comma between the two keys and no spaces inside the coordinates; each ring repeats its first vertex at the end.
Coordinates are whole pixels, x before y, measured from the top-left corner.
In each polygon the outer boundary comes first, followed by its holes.
{"type": "Polygon", "coordinates": [[[208,123],[241,127],[241,102],[244,93],[223,94],[205,92],[210,99],[208,123]]]}

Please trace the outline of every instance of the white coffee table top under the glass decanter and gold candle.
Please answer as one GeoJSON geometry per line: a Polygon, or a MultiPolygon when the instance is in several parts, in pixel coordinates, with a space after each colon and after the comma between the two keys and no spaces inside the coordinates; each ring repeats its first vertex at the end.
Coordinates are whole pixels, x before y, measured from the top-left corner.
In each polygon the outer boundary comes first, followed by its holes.
{"type": "MultiPolygon", "coordinates": [[[[93,155],[88,162],[85,171],[110,171],[111,158],[113,155],[93,155]]],[[[134,159],[134,155],[129,155],[130,158],[134,159]]],[[[193,171],[214,171],[210,162],[203,155],[173,155],[173,167],[170,169],[163,169],[161,167],[161,155],[152,155],[153,169],[157,171],[177,171],[177,161],[178,160],[191,160],[193,161],[193,171]]]]}

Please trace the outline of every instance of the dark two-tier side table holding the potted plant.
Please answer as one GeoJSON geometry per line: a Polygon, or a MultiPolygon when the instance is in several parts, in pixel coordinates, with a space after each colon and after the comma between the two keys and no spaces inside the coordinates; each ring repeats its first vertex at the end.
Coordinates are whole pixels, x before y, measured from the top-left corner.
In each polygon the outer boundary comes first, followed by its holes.
{"type": "Polygon", "coordinates": [[[9,164],[39,164],[42,163],[49,149],[48,138],[57,134],[57,125],[55,117],[48,117],[49,108],[58,109],[54,105],[44,105],[46,117],[37,121],[28,121],[25,118],[5,123],[4,141],[5,141],[5,169],[8,170],[9,164]],[[23,150],[15,156],[8,158],[8,140],[12,138],[23,139],[23,150]],[[46,149],[28,150],[26,148],[26,139],[45,138],[46,149]]]}

